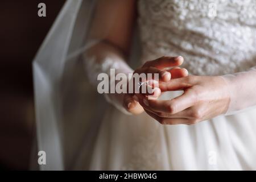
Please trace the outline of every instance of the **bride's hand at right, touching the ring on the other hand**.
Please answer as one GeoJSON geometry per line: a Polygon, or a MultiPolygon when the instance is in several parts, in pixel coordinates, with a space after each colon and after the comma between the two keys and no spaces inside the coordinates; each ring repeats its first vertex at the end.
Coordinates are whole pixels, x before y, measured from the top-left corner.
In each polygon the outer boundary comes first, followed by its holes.
{"type": "Polygon", "coordinates": [[[172,100],[148,100],[139,94],[139,103],[152,118],[164,125],[191,125],[224,114],[230,96],[228,85],[219,76],[188,76],[159,85],[162,92],[184,90],[172,100]]]}

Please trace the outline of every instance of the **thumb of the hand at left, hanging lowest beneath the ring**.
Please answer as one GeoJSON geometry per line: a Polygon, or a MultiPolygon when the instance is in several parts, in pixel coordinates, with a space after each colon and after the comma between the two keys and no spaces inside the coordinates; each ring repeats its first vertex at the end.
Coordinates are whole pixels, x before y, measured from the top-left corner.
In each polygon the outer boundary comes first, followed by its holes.
{"type": "Polygon", "coordinates": [[[131,114],[141,114],[144,111],[139,102],[134,100],[129,94],[125,95],[123,106],[131,114]]]}

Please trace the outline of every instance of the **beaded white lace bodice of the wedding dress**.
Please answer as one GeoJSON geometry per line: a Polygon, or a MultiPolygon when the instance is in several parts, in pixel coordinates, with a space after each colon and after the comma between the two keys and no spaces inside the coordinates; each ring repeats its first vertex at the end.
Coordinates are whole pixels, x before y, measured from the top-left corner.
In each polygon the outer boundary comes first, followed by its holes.
{"type": "Polygon", "coordinates": [[[138,2],[142,60],[182,55],[193,75],[224,75],[256,65],[256,1],[138,2]]]}

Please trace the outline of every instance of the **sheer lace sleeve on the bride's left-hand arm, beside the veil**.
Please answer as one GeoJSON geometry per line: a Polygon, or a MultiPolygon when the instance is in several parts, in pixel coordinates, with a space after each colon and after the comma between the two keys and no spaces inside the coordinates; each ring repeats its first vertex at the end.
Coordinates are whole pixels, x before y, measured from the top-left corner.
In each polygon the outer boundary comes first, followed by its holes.
{"type": "MultiPolygon", "coordinates": [[[[100,73],[106,73],[108,75],[109,85],[115,82],[115,80],[110,80],[110,69],[115,69],[115,75],[118,73],[125,73],[126,75],[133,73],[133,69],[127,65],[122,53],[107,43],[99,43],[89,51],[86,51],[84,53],[84,61],[89,81],[95,87],[98,85],[99,81],[97,78],[100,73]]],[[[130,114],[122,105],[122,97],[117,95],[118,93],[104,93],[106,101],[123,113],[130,114]]]]}

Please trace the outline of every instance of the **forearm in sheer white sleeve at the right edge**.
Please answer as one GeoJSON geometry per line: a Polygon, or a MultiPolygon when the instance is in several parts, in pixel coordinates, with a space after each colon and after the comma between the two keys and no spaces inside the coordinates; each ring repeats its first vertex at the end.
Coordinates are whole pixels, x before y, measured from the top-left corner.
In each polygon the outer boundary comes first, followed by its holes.
{"type": "Polygon", "coordinates": [[[230,103],[227,115],[256,105],[256,67],[245,72],[221,76],[228,84],[230,103]]]}

